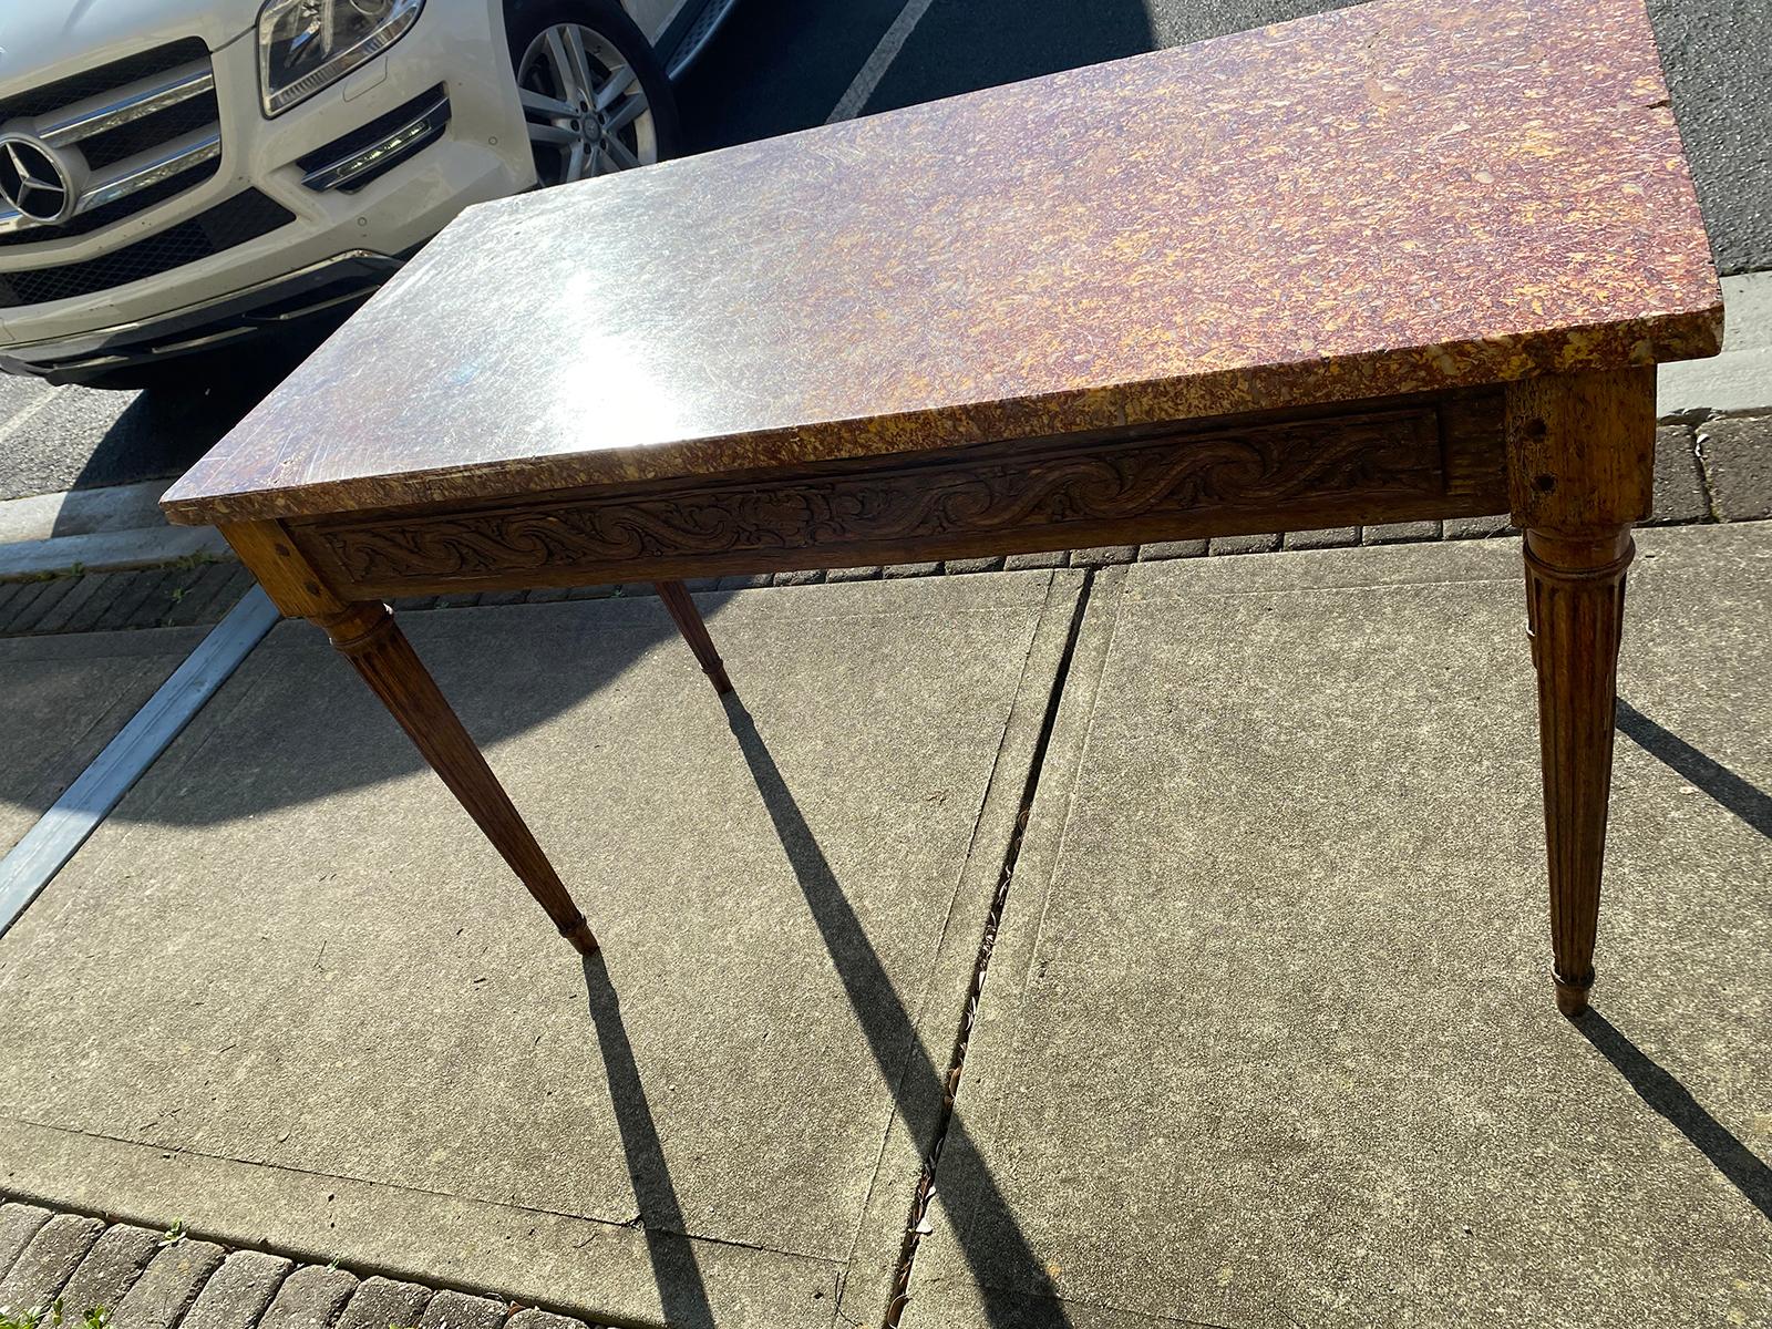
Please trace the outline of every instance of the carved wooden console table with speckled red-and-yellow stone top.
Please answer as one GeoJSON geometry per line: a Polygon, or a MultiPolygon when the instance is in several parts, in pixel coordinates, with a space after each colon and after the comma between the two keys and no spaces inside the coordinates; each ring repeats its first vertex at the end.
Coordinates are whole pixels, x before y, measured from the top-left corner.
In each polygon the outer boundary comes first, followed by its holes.
{"type": "Polygon", "coordinates": [[[1641,0],[1379,0],[473,207],[165,510],[587,953],[386,597],[654,579],[725,689],[684,578],[1510,512],[1579,1014],[1653,365],[1719,335],[1641,0]]]}

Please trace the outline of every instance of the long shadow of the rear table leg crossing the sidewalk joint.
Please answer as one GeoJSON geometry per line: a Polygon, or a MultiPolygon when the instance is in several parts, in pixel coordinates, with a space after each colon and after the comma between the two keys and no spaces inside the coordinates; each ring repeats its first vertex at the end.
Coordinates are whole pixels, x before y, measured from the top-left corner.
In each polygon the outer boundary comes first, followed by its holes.
{"type": "MultiPolygon", "coordinates": [[[[739,741],[746,766],[757,781],[757,792],[774,822],[781,849],[794,868],[794,877],[806,897],[819,934],[824,937],[831,962],[849,996],[849,1005],[868,1040],[868,1051],[881,1077],[891,1086],[898,1109],[911,1127],[918,1150],[925,1155],[934,1145],[943,1106],[943,1070],[936,1067],[916,1022],[893,989],[861,920],[843,895],[829,859],[799,812],[787,780],[769,753],[762,734],[751,721],[737,693],[723,698],[727,721],[739,741]],[[897,1067],[904,1065],[898,1072],[897,1067]]],[[[969,1214],[953,1214],[955,1237],[971,1265],[985,1304],[985,1315],[994,1329],[1069,1329],[1069,1318],[1058,1290],[1021,1232],[1003,1193],[983,1164],[982,1154],[966,1138],[966,1123],[955,1115],[948,1123],[943,1148],[966,1150],[978,1157],[976,1175],[969,1178],[969,1214]]],[[[939,1177],[937,1177],[939,1184],[939,1177]]],[[[909,1214],[911,1196],[904,1196],[909,1214]]],[[[914,1283],[913,1283],[914,1295],[914,1283]]]]}

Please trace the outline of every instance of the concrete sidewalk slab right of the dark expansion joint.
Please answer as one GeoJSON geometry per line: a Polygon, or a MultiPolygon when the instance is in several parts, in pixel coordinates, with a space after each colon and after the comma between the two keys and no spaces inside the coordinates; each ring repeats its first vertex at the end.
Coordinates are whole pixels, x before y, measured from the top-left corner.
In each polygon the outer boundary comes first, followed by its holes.
{"type": "Polygon", "coordinates": [[[1772,1324],[1772,526],[1639,551],[1581,1024],[1517,542],[1097,585],[907,1327],[1772,1324]]]}

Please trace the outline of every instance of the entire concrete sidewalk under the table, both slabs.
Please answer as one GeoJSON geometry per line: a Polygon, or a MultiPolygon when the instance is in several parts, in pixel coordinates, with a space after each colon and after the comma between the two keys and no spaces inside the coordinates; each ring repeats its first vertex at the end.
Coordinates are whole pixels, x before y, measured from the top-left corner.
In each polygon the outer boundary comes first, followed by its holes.
{"type": "Polygon", "coordinates": [[[705,595],[730,707],[408,617],[590,966],[291,624],[0,937],[0,1193],[604,1324],[879,1324],[909,1212],[913,1329],[1768,1325],[1772,523],[1639,548],[1581,1026],[1515,540],[705,595]]]}

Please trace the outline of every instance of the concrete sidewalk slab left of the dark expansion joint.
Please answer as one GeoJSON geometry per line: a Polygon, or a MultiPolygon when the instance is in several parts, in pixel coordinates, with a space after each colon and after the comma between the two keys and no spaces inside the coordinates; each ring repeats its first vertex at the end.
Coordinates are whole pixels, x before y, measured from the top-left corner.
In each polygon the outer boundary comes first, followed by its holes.
{"type": "Polygon", "coordinates": [[[727,707],[656,599],[415,617],[588,966],[275,631],[0,937],[0,1189],[604,1322],[874,1317],[1081,585],[709,599],[727,707]]]}

